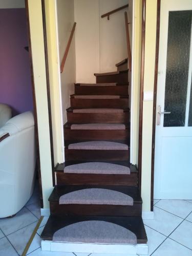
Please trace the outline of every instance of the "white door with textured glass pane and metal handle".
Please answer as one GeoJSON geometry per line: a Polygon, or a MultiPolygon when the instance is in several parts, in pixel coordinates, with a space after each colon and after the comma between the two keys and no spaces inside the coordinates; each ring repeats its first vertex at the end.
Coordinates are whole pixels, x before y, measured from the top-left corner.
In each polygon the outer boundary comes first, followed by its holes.
{"type": "Polygon", "coordinates": [[[192,0],[161,0],[155,199],[192,199],[191,17],[192,0]]]}

